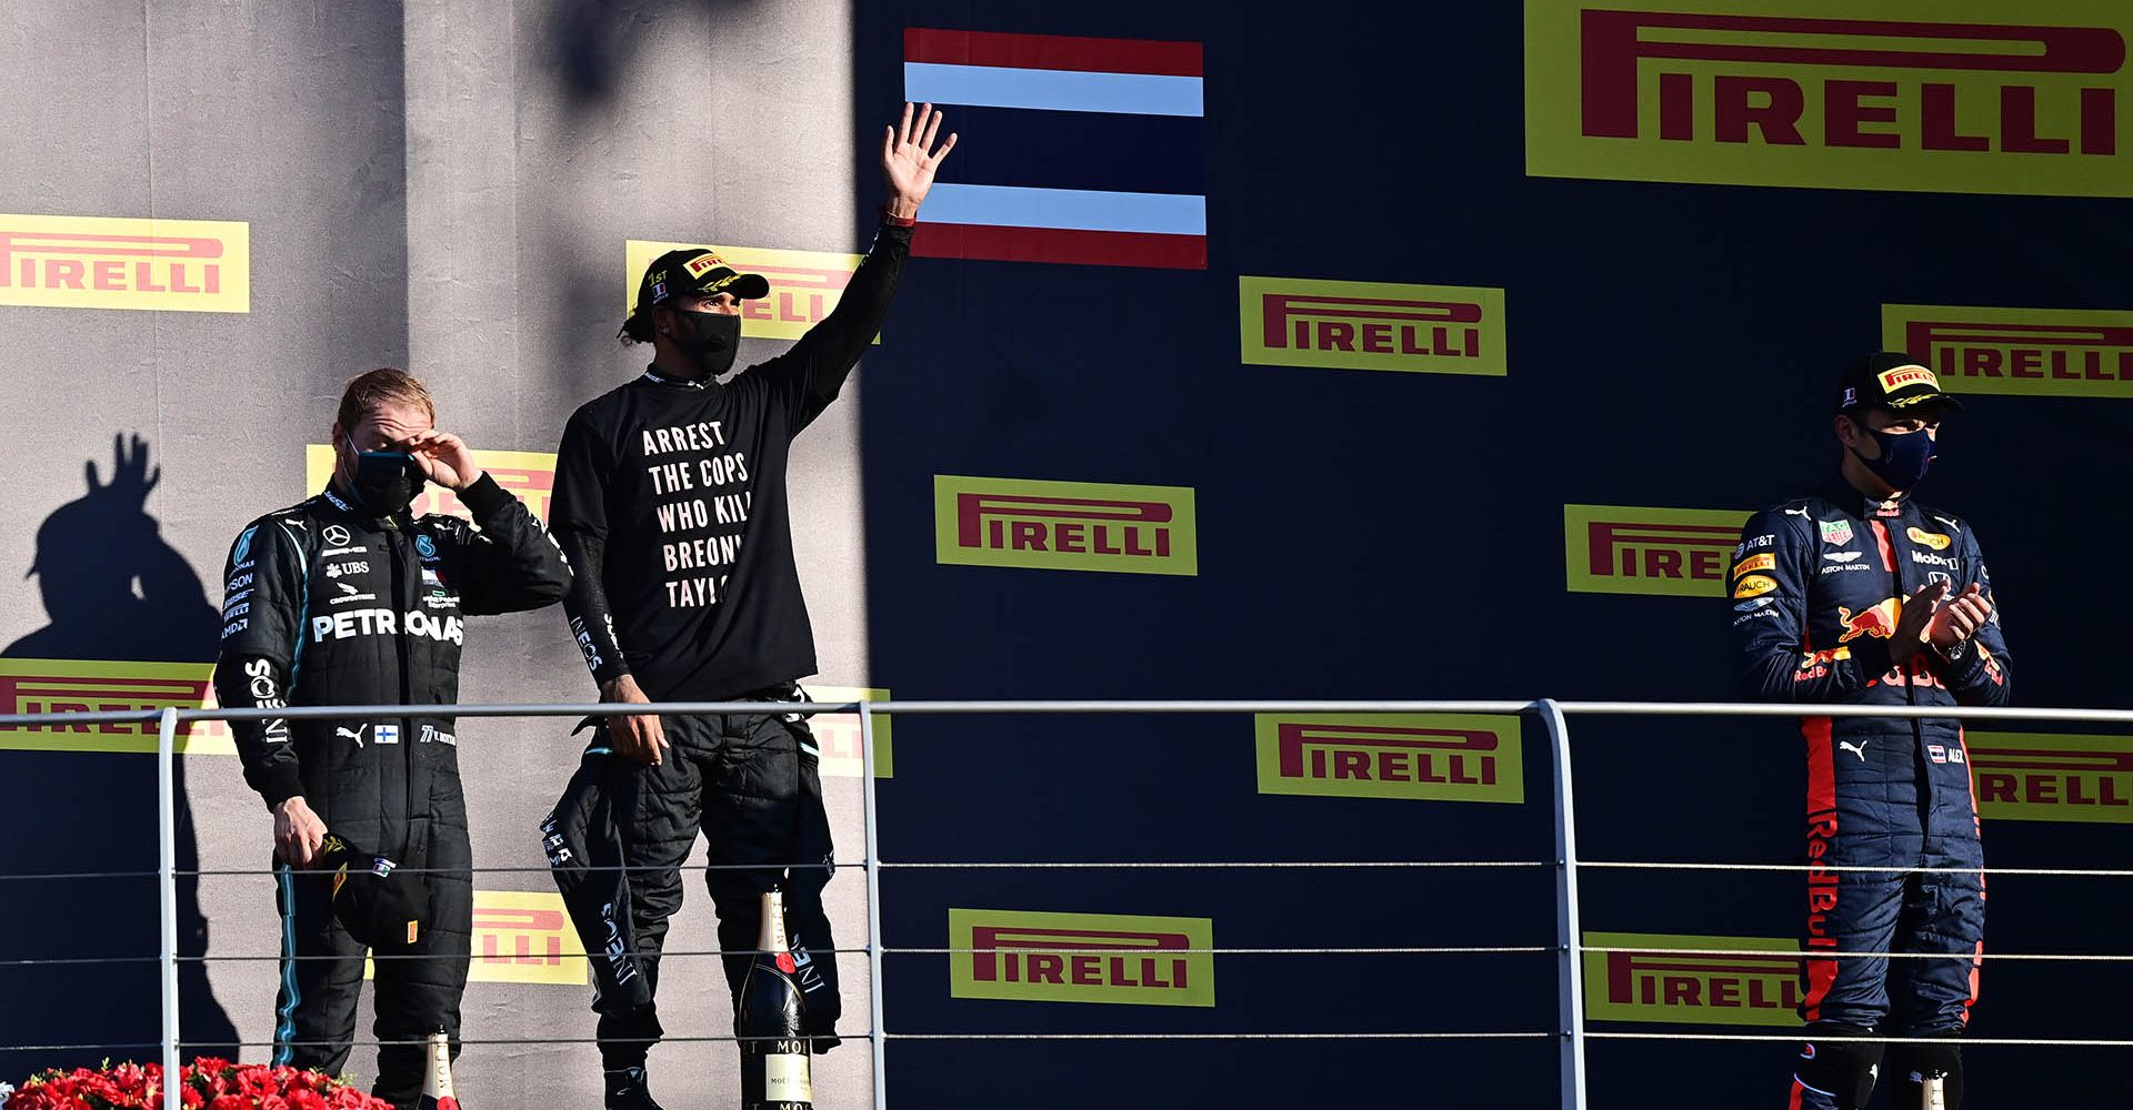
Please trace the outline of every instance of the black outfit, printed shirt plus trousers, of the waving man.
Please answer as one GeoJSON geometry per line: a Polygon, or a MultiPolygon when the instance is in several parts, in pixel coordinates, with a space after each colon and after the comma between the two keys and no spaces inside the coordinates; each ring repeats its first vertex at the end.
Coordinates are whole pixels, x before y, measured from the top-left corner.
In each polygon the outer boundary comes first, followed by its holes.
{"type": "MultiPolygon", "coordinates": [[[[793,680],[815,673],[815,639],[793,567],[787,456],[881,330],[909,251],[911,230],[883,222],[836,309],[723,386],[646,373],[570,418],[550,520],[578,567],[565,609],[597,682],[634,675],[653,701],[802,697],[793,680]]],[[[806,722],[668,714],[661,724],[672,752],[659,767],[595,737],[542,825],[593,952],[604,1065],[642,1065],[661,1033],[659,950],[697,829],[710,842],[719,948],[742,952],[725,959],[727,986],[738,999],[759,895],[783,886],[793,959],[811,963],[800,976],[808,1031],[817,1050],[832,1046],[830,822],[806,722]]]]}

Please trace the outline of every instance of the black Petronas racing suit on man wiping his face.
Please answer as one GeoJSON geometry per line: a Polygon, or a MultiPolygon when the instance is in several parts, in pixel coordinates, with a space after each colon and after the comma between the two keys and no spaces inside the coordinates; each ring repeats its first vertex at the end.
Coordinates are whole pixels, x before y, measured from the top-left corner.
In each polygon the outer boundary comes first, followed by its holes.
{"type": "MultiPolygon", "coordinates": [[[[461,618],[538,609],[570,590],[563,552],[518,499],[486,475],[459,496],[480,530],[450,516],[375,520],[326,490],[239,533],[224,586],[218,701],[459,701],[461,618]]],[[[420,1042],[442,1025],[456,1055],[474,859],[452,718],[273,720],[232,731],[245,782],[269,807],[301,795],[326,829],[427,882],[427,933],[412,959],[378,961],[375,1033],[420,1042]]],[[[273,1061],[339,1074],[356,1031],[365,948],[333,918],[331,878],[277,867],[273,1061]]],[[[420,1044],[382,1046],[378,1097],[416,1106],[422,1057],[420,1044]]]]}

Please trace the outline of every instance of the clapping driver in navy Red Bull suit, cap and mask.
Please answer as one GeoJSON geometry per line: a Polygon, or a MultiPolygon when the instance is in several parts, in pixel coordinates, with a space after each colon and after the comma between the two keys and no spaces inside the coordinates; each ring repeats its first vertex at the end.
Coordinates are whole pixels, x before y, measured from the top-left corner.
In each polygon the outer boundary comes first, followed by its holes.
{"type": "MultiPolygon", "coordinates": [[[[1911,496],[1932,464],[1941,420],[1962,405],[1930,369],[1888,352],[1858,360],[1834,401],[1837,475],[1813,496],[1758,513],[1734,550],[1741,692],[2005,705],[2014,663],[1977,535],[1911,496]]],[[[1984,867],[1984,848],[1962,722],[1819,716],[1800,731],[1809,863],[1800,1016],[1809,1040],[1787,1106],[1866,1106],[1886,1076],[1894,1108],[1956,1110],[1956,1046],[1875,1038],[1954,1038],[1977,997],[1984,878],[1960,869],[1984,867]],[[1932,1101],[1935,1084],[1941,1101],[1932,1101]]]]}

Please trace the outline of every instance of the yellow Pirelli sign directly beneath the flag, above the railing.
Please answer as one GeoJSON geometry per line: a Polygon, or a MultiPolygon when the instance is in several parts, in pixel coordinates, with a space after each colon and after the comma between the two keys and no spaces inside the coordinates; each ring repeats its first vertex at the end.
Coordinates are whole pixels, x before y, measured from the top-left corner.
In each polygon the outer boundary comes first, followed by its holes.
{"type": "Polygon", "coordinates": [[[1197,575],[1192,490],[934,475],[934,554],[964,567],[1197,575]]]}

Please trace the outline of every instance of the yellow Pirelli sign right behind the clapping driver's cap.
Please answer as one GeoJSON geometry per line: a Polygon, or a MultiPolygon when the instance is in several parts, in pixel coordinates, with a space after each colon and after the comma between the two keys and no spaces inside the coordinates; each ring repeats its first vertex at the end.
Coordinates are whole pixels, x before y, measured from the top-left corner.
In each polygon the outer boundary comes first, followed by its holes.
{"type": "Polygon", "coordinates": [[[2133,311],[1881,305],[1881,343],[1947,392],[2133,396],[2133,311]]]}

